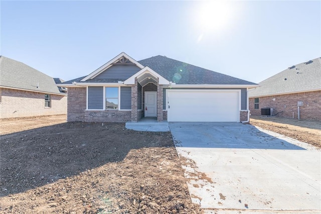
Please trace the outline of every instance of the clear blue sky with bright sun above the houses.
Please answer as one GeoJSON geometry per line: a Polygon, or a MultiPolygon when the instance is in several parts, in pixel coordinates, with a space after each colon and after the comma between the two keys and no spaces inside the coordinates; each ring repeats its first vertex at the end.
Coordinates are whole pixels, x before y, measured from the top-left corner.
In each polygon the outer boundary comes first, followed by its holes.
{"type": "Polygon", "coordinates": [[[0,54],[52,77],[121,52],[260,82],[321,57],[321,1],[1,1],[0,54]]]}

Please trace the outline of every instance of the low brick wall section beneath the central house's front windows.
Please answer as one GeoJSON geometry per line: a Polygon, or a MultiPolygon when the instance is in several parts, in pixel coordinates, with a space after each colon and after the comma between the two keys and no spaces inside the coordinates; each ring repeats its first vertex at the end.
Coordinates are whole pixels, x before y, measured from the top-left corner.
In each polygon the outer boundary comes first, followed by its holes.
{"type": "Polygon", "coordinates": [[[84,122],[126,123],[131,120],[131,111],[85,111],[84,122]]]}

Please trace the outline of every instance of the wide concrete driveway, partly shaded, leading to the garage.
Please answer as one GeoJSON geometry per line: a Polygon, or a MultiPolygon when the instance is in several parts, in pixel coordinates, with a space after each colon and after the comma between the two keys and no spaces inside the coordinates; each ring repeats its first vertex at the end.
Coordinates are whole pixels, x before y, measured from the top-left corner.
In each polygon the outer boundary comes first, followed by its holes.
{"type": "Polygon", "coordinates": [[[202,208],[321,212],[315,147],[240,123],[169,126],[192,200],[202,208]]]}

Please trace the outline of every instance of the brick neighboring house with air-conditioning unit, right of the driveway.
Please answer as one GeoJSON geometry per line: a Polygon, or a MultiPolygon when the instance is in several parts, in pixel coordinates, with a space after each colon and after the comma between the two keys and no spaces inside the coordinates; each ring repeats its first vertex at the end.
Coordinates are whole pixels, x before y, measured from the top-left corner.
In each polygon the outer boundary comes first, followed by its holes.
{"type": "Polygon", "coordinates": [[[251,115],[260,116],[262,109],[264,114],[265,108],[271,108],[271,115],[321,120],[320,57],[293,65],[259,85],[249,90],[251,115]]]}

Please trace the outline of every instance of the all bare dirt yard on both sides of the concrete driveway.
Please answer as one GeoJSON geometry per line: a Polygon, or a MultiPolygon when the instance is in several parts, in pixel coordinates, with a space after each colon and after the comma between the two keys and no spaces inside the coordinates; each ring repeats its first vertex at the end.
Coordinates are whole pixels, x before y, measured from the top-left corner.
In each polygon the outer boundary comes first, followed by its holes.
{"type": "MultiPolygon", "coordinates": [[[[251,124],[320,147],[318,122],[251,124]]],[[[2,120],[0,128],[0,213],[202,213],[170,132],[66,116],[2,120]]]]}

